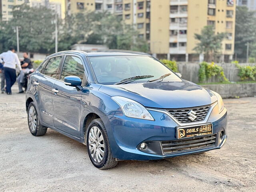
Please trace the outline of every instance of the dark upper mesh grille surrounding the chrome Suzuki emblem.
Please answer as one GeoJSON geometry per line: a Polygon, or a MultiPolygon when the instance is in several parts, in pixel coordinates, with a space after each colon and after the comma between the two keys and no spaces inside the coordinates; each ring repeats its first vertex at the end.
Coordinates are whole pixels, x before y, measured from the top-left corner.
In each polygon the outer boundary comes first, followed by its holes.
{"type": "Polygon", "coordinates": [[[203,121],[206,117],[209,106],[201,106],[201,107],[194,107],[194,108],[181,108],[181,109],[167,109],[167,111],[174,117],[176,120],[178,120],[180,123],[189,123],[189,122],[200,122],[203,121]],[[190,119],[190,116],[188,113],[190,111],[193,111],[196,118],[194,121],[190,119]]]}

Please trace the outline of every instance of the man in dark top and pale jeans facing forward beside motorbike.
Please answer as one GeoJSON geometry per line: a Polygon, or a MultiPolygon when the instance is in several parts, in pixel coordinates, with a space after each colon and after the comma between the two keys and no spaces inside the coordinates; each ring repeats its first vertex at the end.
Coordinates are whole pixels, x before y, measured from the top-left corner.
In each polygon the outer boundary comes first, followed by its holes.
{"type": "Polygon", "coordinates": [[[19,86],[19,92],[18,93],[23,93],[23,89],[22,89],[22,84],[23,84],[23,80],[24,80],[24,76],[26,74],[28,74],[30,71],[33,70],[33,65],[31,60],[28,58],[28,53],[25,52],[23,54],[24,60],[22,62],[21,68],[22,70],[20,71],[20,74],[17,78],[17,82],[18,82],[18,86],[19,86]]]}

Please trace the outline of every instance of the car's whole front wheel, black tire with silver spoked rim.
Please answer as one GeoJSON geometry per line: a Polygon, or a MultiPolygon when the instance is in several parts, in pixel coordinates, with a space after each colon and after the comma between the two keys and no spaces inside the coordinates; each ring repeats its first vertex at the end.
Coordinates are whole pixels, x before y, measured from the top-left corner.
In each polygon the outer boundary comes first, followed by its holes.
{"type": "Polygon", "coordinates": [[[86,133],[88,155],[92,164],[99,169],[110,169],[117,165],[112,157],[106,128],[101,119],[94,119],[86,133]]]}

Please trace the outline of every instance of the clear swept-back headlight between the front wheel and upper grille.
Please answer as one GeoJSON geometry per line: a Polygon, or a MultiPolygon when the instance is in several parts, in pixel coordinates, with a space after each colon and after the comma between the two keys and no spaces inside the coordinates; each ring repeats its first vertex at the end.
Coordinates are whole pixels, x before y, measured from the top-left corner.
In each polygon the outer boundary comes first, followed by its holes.
{"type": "Polygon", "coordinates": [[[152,115],[142,104],[121,96],[114,96],[112,99],[121,107],[125,116],[154,121],[152,115]]]}

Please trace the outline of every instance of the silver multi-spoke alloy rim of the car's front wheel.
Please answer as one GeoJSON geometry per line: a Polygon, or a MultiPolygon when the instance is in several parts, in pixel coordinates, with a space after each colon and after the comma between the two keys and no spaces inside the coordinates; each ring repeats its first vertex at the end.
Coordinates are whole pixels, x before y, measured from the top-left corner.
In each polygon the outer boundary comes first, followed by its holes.
{"type": "Polygon", "coordinates": [[[89,132],[88,143],[92,159],[96,163],[102,162],[105,154],[105,142],[102,132],[98,127],[93,126],[91,128],[89,132]]]}

